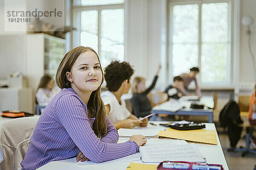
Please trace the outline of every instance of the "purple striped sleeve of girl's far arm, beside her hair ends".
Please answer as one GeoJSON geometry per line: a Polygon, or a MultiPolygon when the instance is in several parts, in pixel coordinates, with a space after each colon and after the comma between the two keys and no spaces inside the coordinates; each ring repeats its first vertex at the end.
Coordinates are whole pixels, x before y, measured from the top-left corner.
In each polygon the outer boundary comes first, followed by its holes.
{"type": "Polygon", "coordinates": [[[104,137],[102,137],[100,140],[106,143],[116,143],[119,139],[119,135],[116,130],[116,127],[114,127],[113,123],[110,121],[107,115],[106,115],[106,123],[107,123],[107,134],[104,137]]]}

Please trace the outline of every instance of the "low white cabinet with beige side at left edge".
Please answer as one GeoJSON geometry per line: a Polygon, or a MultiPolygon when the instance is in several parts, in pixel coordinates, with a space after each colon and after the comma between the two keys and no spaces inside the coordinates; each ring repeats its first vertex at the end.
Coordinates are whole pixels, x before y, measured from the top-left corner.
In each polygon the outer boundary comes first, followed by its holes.
{"type": "Polygon", "coordinates": [[[16,110],[33,113],[32,88],[0,88],[0,111],[16,110]]]}

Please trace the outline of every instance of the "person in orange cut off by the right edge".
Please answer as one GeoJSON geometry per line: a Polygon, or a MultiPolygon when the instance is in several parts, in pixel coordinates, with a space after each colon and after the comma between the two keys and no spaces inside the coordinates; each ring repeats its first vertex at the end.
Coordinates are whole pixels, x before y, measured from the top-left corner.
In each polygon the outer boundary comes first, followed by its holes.
{"type": "MultiPolygon", "coordinates": [[[[253,93],[250,96],[249,105],[249,115],[248,119],[251,125],[256,125],[256,85],[254,86],[253,93]]],[[[256,138],[255,136],[250,136],[251,145],[256,149],[256,138]]]]}

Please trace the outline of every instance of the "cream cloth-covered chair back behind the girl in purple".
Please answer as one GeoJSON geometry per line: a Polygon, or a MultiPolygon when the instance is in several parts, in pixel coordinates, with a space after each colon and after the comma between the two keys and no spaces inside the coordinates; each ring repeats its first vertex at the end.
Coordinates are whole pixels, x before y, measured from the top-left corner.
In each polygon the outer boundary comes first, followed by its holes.
{"type": "Polygon", "coordinates": [[[20,170],[38,116],[12,119],[0,125],[0,169],[20,170]]]}

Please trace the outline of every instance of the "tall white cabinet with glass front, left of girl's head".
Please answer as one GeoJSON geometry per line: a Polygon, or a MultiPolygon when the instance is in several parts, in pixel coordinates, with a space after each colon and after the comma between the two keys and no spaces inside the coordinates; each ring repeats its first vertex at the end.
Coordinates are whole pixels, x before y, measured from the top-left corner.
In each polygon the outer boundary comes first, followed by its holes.
{"type": "Polygon", "coordinates": [[[47,34],[26,35],[25,74],[33,94],[44,74],[54,79],[58,65],[65,54],[65,40],[47,34]]]}

